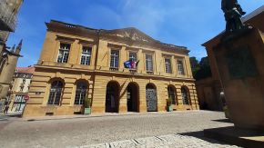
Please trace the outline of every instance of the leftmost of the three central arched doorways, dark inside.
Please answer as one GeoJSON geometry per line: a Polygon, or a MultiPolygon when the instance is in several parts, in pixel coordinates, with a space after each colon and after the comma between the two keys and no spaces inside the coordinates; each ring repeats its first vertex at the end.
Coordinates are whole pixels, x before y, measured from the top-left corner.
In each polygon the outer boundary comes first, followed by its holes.
{"type": "Polygon", "coordinates": [[[106,112],[118,113],[119,108],[119,84],[117,82],[109,82],[107,84],[106,94],[106,112]]]}

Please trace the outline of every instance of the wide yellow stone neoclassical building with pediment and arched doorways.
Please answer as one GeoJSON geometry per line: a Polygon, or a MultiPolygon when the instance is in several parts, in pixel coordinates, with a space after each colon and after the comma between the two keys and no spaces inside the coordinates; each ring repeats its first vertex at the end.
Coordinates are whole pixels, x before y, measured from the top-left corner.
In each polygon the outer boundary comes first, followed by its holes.
{"type": "Polygon", "coordinates": [[[24,116],[198,110],[188,49],[161,43],[136,28],[92,29],[52,20],[24,116]],[[127,60],[139,61],[127,69],[127,60]]]}

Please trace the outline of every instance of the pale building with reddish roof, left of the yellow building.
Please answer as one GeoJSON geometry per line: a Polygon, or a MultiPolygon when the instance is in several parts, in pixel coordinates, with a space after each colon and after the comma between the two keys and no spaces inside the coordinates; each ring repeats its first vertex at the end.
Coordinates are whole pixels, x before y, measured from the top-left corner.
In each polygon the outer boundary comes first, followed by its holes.
{"type": "Polygon", "coordinates": [[[24,98],[25,95],[28,94],[29,85],[34,72],[34,66],[15,68],[15,74],[8,94],[9,112],[23,112],[25,107],[24,98]]]}

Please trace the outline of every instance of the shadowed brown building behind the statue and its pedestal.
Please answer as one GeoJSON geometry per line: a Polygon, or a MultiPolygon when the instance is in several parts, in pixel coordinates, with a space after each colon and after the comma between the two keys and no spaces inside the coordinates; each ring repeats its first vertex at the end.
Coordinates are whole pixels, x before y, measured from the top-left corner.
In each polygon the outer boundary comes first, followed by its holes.
{"type": "MultiPolygon", "coordinates": [[[[264,31],[264,5],[246,15],[242,21],[246,25],[251,25],[258,28],[260,32],[264,31]]],[[[220,42],[222,34],[219,34],[208,42],[202,44],[206,47],[208,53],[208,60],[211,68],[212,76],[196,82],[198,90],[199,104],[206,105],[209,110],[222,110],[225,101],[222,100],[220,92],[223,92],[222,84],[220,82],[216,58],[213,56],[213,48],[220,42]]]]}

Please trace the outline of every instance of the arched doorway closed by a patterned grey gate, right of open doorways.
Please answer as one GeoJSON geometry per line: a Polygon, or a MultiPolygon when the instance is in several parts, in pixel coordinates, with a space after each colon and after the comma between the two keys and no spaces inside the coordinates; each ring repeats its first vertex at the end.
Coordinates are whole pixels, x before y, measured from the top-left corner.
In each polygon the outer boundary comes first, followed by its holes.
{"type": "Polygon", "coordinates": [[[146,86],[147,112],[157,112],[157,91],[154,84],[146,86]]]}

